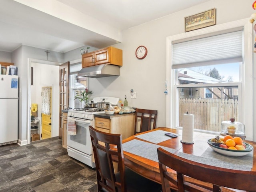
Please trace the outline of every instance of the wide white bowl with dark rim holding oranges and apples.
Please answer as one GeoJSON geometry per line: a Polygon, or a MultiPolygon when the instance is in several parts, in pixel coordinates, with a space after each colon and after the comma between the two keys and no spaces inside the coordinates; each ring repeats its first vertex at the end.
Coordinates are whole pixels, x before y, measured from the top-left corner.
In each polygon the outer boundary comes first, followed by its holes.
{"type": "Polygon", "coordinates": [[[245,150],[232,150],[232,149],[226,149],[226,148],[218,147],[218,146],[215,146],[215,145],[212,144],[211,139],[209,139],[207,141],[207,143],[210,145],[210,147],[214,151],[216,151],[220,154],[223,154],[223,155],[227,155],[227,156],[244,156],[244,155],[247,155],[248,153],[250,153],[253,150],[253,146],[251,146],[250,144],[245,143],[245,142],[244,142],[244,144],[246,145],[245,150]]]}

